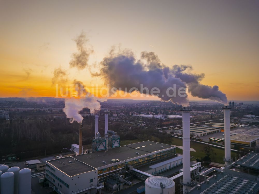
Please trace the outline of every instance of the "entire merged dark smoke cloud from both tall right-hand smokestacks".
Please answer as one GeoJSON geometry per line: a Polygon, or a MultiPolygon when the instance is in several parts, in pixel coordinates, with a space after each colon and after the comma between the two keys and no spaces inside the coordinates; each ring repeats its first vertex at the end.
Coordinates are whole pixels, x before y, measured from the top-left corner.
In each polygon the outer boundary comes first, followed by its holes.
{"type": "Polygon", "coordinates": [[[138,88],[137,91],[140,92],[140,85],[143,84],[149,92],[143,90],[142,93],[150,95],[151,89],[157,87],[160,89],[159,98],[179,104],[188,103],[187,95],[180,97],[176,94],[175,97],[168,97],[166,94],[167,88],[173,87],[174,84],[176,84],[176,91],[181,87],[188,88],[192,96],[221,103],[227,102],[226,95],[219,90],[218,86],[210,87],[200,84],[204,74],[185,73],[186,70],[192,70],[190,65],[174,65],[169,68],[161,64],[158,56],[153,52],[142,52],[141,59],[146,63],[136,60],[132,52],[128,50],[118,54],[114,54],[113,50],[112,54],[110,53],[110,56],[100,63],[102,68],[98,75],[102,76],[111,88],[122,88],[122,90],[127,88],[126,92],[130,92],[130,88],[133,87],[138,88]]]}

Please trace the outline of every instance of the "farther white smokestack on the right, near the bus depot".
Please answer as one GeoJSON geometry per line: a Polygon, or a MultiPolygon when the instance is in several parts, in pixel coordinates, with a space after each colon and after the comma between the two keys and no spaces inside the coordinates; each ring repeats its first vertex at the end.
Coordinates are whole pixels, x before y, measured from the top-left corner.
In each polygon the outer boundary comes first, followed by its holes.
{"type": "Polygon", "coordinates": [[[225,165],[231,164],[231,148],[230,148],[230,107],[223,106],[224,110],[224,137],[225,137],[225,165]]]}

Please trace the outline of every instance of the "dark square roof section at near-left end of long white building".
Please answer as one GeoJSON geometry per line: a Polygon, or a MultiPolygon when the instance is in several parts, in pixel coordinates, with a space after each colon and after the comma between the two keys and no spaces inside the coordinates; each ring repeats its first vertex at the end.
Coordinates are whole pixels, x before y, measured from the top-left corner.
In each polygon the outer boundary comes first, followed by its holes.
{"type": "Polygon", "coordinates": [[[96,170],[95,168],[84,164],[78,160],[75,160],[73,157],[64,157],[55,160],[48,161],[50,164],[61,170],[63,173],[68,176],[75,176],[81,173],[86,173],[92,170],[96,170]],[[70,161],[70,162],[69,162],[70,161]]]}

